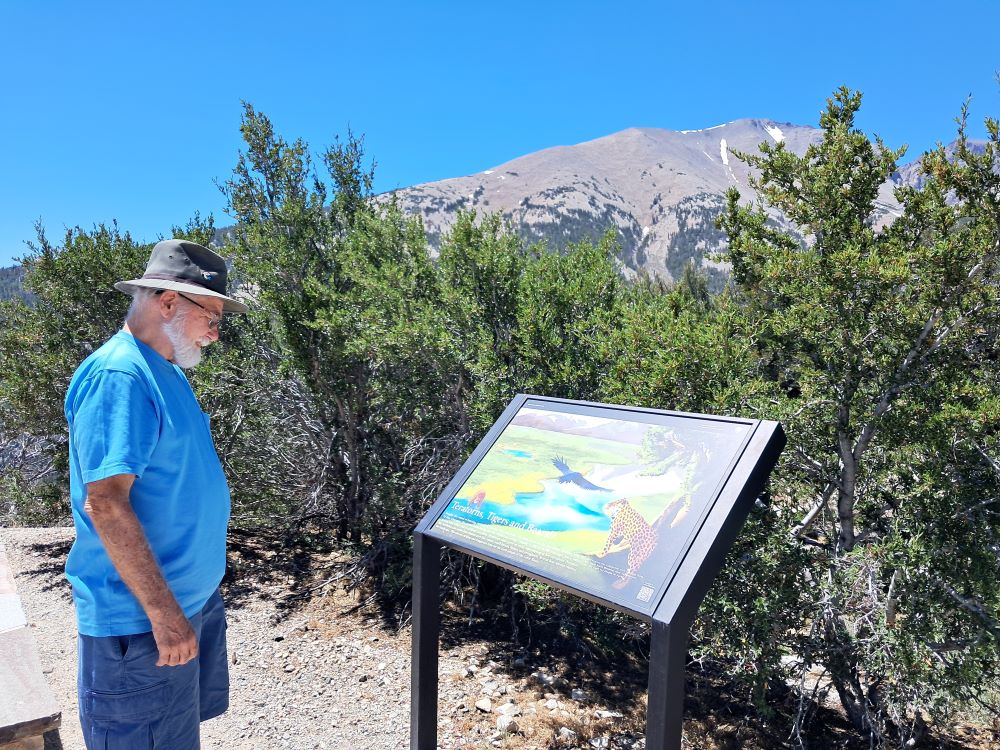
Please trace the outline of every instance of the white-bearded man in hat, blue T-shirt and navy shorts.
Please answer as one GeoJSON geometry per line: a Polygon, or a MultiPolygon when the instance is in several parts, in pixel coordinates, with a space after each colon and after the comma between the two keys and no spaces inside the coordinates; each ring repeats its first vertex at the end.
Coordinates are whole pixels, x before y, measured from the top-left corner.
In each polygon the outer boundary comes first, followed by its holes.
{"type": "Polygon", "coordinates": [[[181,368],[219,337],[225,261],[193,242],[154,248],[125,326],[66,394],[76,541],[66,562],[79,627],[87,748],[199,747],[229,705],[229,488],[181,368]]]}

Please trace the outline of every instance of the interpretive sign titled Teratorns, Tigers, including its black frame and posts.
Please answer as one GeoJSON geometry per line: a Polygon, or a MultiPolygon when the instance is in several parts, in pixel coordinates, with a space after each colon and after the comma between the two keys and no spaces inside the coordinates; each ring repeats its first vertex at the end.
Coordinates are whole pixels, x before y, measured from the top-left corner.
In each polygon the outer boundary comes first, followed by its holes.
{"type": "Polygon", "coordinates": [[[652,623],[647,750],[680,748],[687,634],[777,422],[516,397],[414,531],[411,748],[436,747],[447,546],[652,623]]]}

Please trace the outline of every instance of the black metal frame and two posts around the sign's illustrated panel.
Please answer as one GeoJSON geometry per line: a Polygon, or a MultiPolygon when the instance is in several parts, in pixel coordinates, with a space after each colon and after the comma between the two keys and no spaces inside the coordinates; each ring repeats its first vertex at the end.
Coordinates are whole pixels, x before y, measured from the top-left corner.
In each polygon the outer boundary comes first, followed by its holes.
{"type": "Polygon", "coordinates": [[[646,747],[648,750],[679,750],[688,631],[701,600],[721,568],[754,500],[763,490],[784,444],[784,432],[777,422],[525,394],[514,398],[414,531],[410,747],[414,750],[433,750],[437,747],[438,589],[440,551],[442,546],[446,546],[650,622],[652,640],[646,747]],[[435,522],[526,404],[568,414],[599,414],[634,422],[657,423],[664,418],[729,422],[746,430],[746,437],[734,452],[733,460],[723,470],[717,471],[718,484],[711,493],[710,501],[699,509],[701,514],[687,535],[675,564],[667,571],[662,585],[648,605],[637,606],[603,592],[581,589],[574,585],[576,581],[539,570],[537,565],[519,565],[516,559],[483,545],[464,543],[435,531],[435,522]]]}

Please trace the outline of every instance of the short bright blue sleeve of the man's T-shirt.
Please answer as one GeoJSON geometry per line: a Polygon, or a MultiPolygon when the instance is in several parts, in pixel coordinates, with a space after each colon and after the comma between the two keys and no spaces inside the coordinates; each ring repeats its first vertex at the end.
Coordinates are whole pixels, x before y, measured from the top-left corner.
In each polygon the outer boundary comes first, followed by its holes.
{"type": "Polygon", "coordinates": [[[85,483],[116,474],[142,476],[160,434],[142,378],[118,370],[95,373],[78,390],[71,411],[70,446],[85,483]]]}

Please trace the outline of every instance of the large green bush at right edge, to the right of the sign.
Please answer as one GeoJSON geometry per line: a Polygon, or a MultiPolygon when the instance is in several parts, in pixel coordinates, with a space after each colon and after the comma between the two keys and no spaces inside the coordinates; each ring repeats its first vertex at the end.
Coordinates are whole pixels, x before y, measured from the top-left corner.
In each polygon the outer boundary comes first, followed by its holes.
{"type": "Polygon", "coordinates": [[[902,152],[854,128],[860,101],[838,91],[801,157],[741,155],[805,247],[735,191],[721,223],[760,355],[791,396],[774,493],[809,550],[802,668],[821,663],[882,744],[997,676],[1000,178],[995,123],[982,154],[963,127],[956,157],[927,154],[922,189],[898,191],[903,216],[877,227],[902,152]]]}

